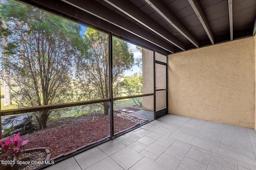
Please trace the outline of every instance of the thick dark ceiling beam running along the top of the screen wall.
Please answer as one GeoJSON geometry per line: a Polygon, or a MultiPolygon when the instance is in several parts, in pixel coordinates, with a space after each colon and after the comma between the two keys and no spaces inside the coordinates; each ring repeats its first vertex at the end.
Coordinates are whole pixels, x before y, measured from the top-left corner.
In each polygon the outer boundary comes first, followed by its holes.
{"type": "MultiPolygon", "coordinates": [[[[127,32],[126,30],[119,28],[117,26],[114,26],[113,24],[110,24],[109,22],[106,22],[100,18],[97,18],[96,16],[93,16],[91,14],[88,14],[87,12],[84,12],[83,10],[80,10],[74,6],[70,6],[69,4],[62,2],[62,1],[53,1],[53,0],[18,0],[20,2],[29,4],[31,6],[35,6],[36,8],[40,8],[42,10],[57,14],[59,16],[63,16],[66,19],[75,20],[77,22],[80,22],[80,24],[85,24],[91,26],[92,28],[96,27],[95,29],[103,29],[109,32],[113,32],[117,36],[120,36],[122,38],[127,39],[128,41],[135,43],[136,45],[140,45],[145,48],[149,48],[152,50],[159,51],[160,53],[168,54],[170,51],[165,50],[164,48],[160,47],[159,45],[155,45],[153,43],[150,43],[146,41],[145,39],[142,39],[130,32],[127,32]]],[[[152,35],[153,36],[153,35],[152,35]]],[[[154,38],[154,37],[152,37],[154,38]]],[[[162,41],[162,40],[157,40],[162,41]]],[[[161,43],[161,42],[160,42],[161,43]]],[[[166,42],[164,42],[166,43],[166,42]]],[[[166,45],[169,45],[166,43],[166,45]]]]}

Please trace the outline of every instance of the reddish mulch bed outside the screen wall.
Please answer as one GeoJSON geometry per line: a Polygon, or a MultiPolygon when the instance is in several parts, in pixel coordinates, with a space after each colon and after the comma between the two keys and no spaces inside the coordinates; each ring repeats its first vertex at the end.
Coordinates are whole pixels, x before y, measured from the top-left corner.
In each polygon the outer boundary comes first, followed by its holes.
{"type": "MultiPolygon", "coordinates": [[[[117,116],[114,116],[114,120],[114,132],[135,125],[134,122],[117,116]]],[[[105,117],[94,122],[37,131],[28,134],[23,140],[29,140],[24,149],[45,146],[49,148],[53,158],[109,135],[110,121],[109,117],[105,117]]]]}

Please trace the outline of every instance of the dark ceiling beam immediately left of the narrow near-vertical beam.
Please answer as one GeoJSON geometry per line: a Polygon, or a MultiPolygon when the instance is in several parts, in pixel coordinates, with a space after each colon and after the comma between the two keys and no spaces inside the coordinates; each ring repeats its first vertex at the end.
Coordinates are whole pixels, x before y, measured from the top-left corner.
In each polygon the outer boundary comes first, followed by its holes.
{"type": "Polygon", "coordinates": [[[202,5],[199,0],[188,0],[190,5],[192,6],[193,10],[195,11],[198,19],[200,20],[202,26],[204,27],[204,30],[209,37],[212,44],[214,44],[214,36],[212,34],[212,29],[210,27],[210,24],[206,18],[206,15],[204,13],[204,9],[202,8],[202,5]]]}

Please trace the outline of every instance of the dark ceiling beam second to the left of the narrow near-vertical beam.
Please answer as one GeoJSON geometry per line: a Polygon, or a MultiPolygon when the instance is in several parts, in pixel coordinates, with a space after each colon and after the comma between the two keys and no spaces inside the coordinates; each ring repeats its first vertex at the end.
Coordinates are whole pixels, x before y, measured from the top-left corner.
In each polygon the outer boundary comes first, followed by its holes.
{"type": "Polygon", "coordinates": [[[169,22],[180,34],[199,48],[199,42],[196,37],[182,24],[174,13],[164,4],[162,0],[145,0],[158,14],[169,22]]]}

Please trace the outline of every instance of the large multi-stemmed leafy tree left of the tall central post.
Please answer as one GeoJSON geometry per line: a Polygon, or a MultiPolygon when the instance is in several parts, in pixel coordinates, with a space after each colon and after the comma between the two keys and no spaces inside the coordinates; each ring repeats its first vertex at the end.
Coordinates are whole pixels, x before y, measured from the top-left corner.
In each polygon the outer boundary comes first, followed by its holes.
{"type": "MultiPolygon", "coordinates": [[[[0,12],[11,32],[2,48],[12,55],[3,64],[10,69],[9,87],[22,95],[16,102],[33,107],[69,101],[64,94],[70,90],[74,61],[87,50],[80,26],[14,0],[5,1],[0,12]]],[[[34,113],[40,129],[52,113],[34,113]]]]}

